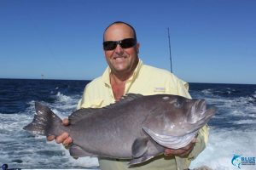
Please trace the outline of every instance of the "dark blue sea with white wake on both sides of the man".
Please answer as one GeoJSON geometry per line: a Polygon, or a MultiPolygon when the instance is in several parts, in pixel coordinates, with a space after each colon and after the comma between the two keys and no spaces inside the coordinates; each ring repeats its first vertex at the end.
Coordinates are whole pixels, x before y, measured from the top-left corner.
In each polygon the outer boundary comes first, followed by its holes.
{"type": "MultiPolygon", "coordinates": [[[[96,158],[73,159],[61,144],[22,129],[32,122],[40,101],[62,118],[76,110],[90,81],[0,79],[0,164],[9,168],[97,169],[96,158]]],[[[256,85],[189,83],[193,98],[206,99],[217,113],[208,123],[209,142],[191,168],[239,169],[234,155],[256,156],[256,85]],[[233,162],[234,163],[234,162],[233,162]]],[[[241,165],[241,169],[256,169],[241,165]]]]}

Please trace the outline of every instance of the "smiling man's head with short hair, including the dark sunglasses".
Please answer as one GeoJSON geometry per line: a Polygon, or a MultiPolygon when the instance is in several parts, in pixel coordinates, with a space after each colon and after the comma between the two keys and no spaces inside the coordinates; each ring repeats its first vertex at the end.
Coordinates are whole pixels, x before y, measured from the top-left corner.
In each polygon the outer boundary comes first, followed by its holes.
{"type": "Polygon", "coordinates": [[[136,31],[125,22],[114,22],[103,35],[103,48],[114,74],[131,74],[137,66],[139,43],[136,31]]]}

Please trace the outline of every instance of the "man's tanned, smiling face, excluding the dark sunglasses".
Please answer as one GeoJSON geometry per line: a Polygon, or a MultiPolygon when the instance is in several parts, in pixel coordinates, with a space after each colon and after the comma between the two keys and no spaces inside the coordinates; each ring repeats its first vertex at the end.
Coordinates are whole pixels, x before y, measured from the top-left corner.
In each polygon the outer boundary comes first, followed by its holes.
{"type": "MultiPolygon", "coordinates": [[[[124,24],[115,24],[105,31],[104,41],[119,41],[133,38],[133,31],[124,24]]],[[[131,48],[121,48],[119,44],[113,50],[105,50],[105,57],[113,73],[131,74],[137,66],[139,43],[131,48]]]]}

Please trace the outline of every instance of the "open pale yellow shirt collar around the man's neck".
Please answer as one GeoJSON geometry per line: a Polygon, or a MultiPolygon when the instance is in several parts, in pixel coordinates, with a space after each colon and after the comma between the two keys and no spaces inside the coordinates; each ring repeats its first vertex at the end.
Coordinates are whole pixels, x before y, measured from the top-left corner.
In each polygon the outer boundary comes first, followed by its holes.
{"type": "MultiPolygon", "coordinates": [[[[141,59],[139,59],[136,69],[133,71],[132,76],[128,79],[127,82],[132,82],[136,79],[142,66],[143,66],[143,61],[141,59]]],[[[109,79],[110,72],[111,72],[111,70],[110,70],[110,67],[108,66],[107,69],[102,74],[102,80],[106,85],[108,85],[108,87],[111,87],[110,79],[109,79]]]]}

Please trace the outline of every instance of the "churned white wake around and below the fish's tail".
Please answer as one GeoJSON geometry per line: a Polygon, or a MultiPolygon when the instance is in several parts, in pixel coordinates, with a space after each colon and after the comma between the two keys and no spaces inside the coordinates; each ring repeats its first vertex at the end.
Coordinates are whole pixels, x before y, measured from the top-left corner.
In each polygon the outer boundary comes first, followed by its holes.
{"type": "Polygon", "coordinates": [[[47,142],[44,136],[23,130],[22,127],[32,122],[35,113],[34,101],[29,104],[25,113],[0,115],[0,162],[21,168],[98,167],[96,158],[75,160],[61,144],[47,142]]]}

